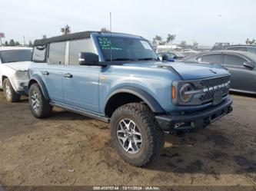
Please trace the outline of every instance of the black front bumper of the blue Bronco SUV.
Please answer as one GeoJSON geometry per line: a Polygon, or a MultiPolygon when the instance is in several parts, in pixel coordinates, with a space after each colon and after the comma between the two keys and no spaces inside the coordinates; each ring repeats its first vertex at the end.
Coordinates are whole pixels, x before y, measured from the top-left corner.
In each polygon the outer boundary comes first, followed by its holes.
{"type": "Polygon", "coordinates": [[[227,97],[216,106],[208,107],[204,110],[194,111],[193,113],[175,114],[175,115],[158,115],[156,120],[160,127],[166,131],[189,130],[200,127],[206,127],[209,123],[220,119],[232,111],[231,104],[233,100],[227,97]]]}

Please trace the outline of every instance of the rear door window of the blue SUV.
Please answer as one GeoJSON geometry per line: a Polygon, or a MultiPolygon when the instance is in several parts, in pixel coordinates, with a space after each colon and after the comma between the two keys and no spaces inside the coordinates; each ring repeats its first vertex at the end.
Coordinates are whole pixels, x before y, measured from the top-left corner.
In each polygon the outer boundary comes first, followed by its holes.
{"type": "Polygon", "coordinates": [[[64,64],[66,42],[55,42],[49,45],[48,64],[64,64]]]}

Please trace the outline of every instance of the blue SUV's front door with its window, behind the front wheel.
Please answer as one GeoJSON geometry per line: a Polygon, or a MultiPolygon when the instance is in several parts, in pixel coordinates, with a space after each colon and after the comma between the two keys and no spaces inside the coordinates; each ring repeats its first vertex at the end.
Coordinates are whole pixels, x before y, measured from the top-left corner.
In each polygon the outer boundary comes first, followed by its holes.
{"type": "Polygon", "coordinates": [[[65,104],[98,113],[98,77],[100,66],[79,65],[80,52],[95,53],[91,39],[69,41],[63,77],[65,104]]]}

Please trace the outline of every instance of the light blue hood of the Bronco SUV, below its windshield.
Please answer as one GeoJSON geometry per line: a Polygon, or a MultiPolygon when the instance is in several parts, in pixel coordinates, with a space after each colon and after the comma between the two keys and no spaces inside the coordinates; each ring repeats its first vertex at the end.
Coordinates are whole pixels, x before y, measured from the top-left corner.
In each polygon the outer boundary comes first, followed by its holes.
{"type": "Polygon", "coordinates": [[[124,65],[141,68],[165,68],[170,71],[175,71],[183,80],[194,80],[229,74],[228,71],[218,64],[185,64],[182,62],[145,61],[140,64],[127,63],[124,65]]]}

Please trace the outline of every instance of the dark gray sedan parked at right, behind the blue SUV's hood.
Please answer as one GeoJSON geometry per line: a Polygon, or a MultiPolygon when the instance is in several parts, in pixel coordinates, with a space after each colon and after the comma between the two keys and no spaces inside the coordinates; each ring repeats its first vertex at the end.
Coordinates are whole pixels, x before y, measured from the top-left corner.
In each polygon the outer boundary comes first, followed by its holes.
{"type": "Polygon", "coordinates": [[[185,63],[221,64],[231,74],[231,91],[256,94],[256,54],[246,51],[210,51],[185,63]]]}

